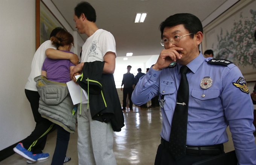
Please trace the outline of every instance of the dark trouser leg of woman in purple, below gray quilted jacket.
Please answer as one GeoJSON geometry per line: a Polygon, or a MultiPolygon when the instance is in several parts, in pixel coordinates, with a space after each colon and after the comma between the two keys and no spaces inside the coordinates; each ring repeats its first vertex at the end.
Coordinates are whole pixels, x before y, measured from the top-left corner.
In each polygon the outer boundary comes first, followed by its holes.
{"type": "Polygon", "coordinates": [[[56,147],[52,157],[51,165],[63,165],[69,145],[70,133],[64,130],[61,126],[57,125],[57,140],[56,147]]]}

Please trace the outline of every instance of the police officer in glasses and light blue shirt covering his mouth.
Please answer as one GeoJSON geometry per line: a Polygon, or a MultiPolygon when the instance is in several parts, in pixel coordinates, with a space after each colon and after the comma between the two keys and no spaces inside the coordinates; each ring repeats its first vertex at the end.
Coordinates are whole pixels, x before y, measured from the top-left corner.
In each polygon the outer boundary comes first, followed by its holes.
{"type": "Polygon", "coordinates": [[[191,165],[222,154],[228,125],[239,165],[256,164],[253,104],[241,71],[230,61],[204,58],[199,51],[203,27],[195,15],[172,15],[160,24],[160,30],[165,50],[132,94],[137,105],[159,95],[163,127],[155,165],[191,165]],[[189,68],[189,99],[185,155],[177,159],[172,156],[176,144],[170,142],[170,134],[175,106],[187,104],[176,101],[182,66],[189,68]]]}

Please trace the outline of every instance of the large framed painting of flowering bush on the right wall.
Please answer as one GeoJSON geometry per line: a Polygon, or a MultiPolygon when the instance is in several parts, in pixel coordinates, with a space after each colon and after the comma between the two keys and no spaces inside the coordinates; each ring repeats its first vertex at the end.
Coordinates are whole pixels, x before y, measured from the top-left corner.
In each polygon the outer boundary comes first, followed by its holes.
{"type": "Polygon", "coordinates": [[[256,0],[240,0],[204,27],[203,52],[232,61],[247,82],[256,81],[256,0]]]}

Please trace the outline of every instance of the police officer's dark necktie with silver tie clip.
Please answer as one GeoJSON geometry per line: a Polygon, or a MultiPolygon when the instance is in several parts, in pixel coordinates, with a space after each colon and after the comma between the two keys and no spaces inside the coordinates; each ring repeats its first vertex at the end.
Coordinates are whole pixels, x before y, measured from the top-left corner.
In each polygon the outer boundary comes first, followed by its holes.
{"type": "Polygon", "coordinates": [[[189,104],[189,83],[187,82],[186,74],[188,71],[189,68],[187,66],[180,68],[181,80],[169,140],[171,154],[176,160],[186,155],[187,113],[189,104]]]}

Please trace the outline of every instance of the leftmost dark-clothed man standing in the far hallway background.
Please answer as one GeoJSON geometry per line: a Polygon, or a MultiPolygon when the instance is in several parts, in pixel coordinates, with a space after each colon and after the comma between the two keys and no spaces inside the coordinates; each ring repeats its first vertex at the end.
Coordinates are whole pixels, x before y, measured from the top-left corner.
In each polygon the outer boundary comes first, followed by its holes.
{"type": "Polygon", "coordinates": [[[131,71],[131,65],[127,66],[127,73],[123,74],[123,80],[121,84],[121,91],[123,91],[123,110],[126,109],[126,98],[128,94],[129,98],[129,108],[132,111],[133,110],[133,101],[131,100],[131,94],[133,93],[133,89],[135,86],[135,78],[134,75],[130,73],[131,71]],[[122,88],[123,86],[123,88],[122,88]]]}

